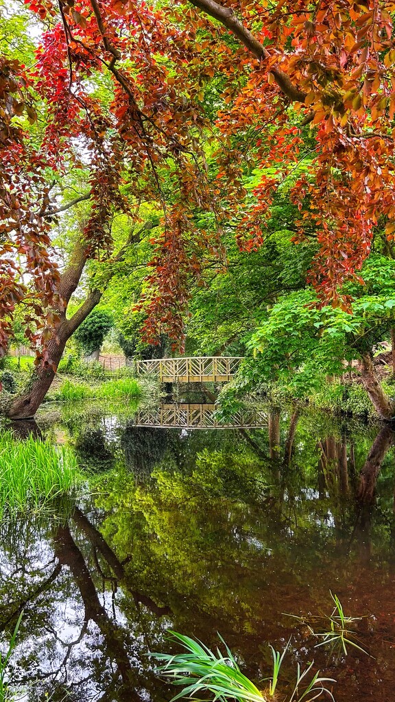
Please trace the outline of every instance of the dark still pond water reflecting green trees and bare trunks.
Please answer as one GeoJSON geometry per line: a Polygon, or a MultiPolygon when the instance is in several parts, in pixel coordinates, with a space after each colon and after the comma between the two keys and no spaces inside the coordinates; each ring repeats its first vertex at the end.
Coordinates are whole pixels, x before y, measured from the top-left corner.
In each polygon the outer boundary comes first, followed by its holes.
{"type": "Polygon", "coordinates": [[[168,651],[173,628],[211,646],[219,632],[256,681],[268,643],[292,636],[279,700],[314,659],[337,702],[394,701],[391,430],[292,409],[261,413],[263,428],[137,427],[133,415],[39,416],[92,477],[77,505],[0,528],[1,630],[24,609],[13,677],[34,681],[26,698],[167,701],[148,652],[168,651]],[[331,614],[330,590],[364,617],[372,657],[314,649],[283,614],[331,614]]]}

